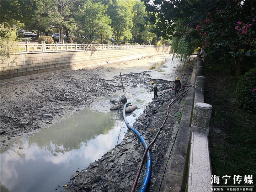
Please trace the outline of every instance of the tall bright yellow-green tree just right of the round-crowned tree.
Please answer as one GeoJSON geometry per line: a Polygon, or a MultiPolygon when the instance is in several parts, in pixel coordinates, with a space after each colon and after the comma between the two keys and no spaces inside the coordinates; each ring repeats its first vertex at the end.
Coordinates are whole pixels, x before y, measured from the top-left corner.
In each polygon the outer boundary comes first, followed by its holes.
{"type": "Polygon", "coordinates": [[[112,23],[113,36],[117,40],[131,39],[131,29],[133,27],[133,5],[135,1],[132,0],[115,0],[110,1],[108,4],[108,15],[112,23]]]}

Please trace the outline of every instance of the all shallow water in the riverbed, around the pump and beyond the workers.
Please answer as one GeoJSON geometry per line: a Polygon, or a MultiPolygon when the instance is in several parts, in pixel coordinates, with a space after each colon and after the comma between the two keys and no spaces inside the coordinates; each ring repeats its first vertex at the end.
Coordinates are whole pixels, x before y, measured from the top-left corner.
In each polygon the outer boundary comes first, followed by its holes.
{"type": "MultiPolygon", "coordinates": [[[[173,66],[166,63],[173,62],[161,61],[146,69],[151,71],[152,79],[162,79],[166,71],[172,73],[173,66]]],[[[153,92],[148,93],[148,87],[142,86],[126,87],[125,91],[127,100],[138,106],[126,115],[132,124],[151,101],[153,92]]],[[[127,132],[122,111],[110,111],[111,100],[118,100],[120,95],[123,90],[97,98],[90,107],[2,148],[1,192],[61,191],[76,171],[122,142],[127,132]]]]}

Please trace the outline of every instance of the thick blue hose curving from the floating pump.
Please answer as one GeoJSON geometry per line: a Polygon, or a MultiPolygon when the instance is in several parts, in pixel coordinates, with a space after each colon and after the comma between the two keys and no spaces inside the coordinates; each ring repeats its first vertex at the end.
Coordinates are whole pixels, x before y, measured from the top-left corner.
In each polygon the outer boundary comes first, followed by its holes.
{"type": "MultiPolygon", "coordinates": [[[[130,104],[129,102],[127,102],[126,104],[124,104],[123,106],[123,118],[124,118],[124,123],[126,124],[127,128],[132,130],[140,139],[140,141],[142,142],[144,149],[146,150],[146,148],[148,148],[148,145],[146,144],[144,138],[142,137],[142,135],[140,135],[140,133],[134,129],[132,126],[129,125],[129,123],[127,122],[126,119],[126,105],[130,104]]],[[[150,151],[148,150],[148,152],[146,153],[146,174],[144,177],[144,181],[142,184],[142,187],[140,187],[140,192],[145,192],[148,184],[149,184],[149,180],[150,180],[150,175],[151,175],[151,155],[150,155],[150,151]]]]}

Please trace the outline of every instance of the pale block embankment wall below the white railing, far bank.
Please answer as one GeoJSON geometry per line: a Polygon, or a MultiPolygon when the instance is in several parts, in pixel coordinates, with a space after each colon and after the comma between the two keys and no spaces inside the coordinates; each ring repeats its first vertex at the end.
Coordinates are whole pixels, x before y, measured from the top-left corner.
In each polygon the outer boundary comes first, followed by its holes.
{"type": "Polygon", "coordinates": [[[132,48],[76,50],[61,52],[37,52],[12,55],[11,59],[0,64],[1,80],[18,78],[54,70],[76,69],[97,64],[106,64],[148,55],[170,53],[170,46],[132,48]]]}

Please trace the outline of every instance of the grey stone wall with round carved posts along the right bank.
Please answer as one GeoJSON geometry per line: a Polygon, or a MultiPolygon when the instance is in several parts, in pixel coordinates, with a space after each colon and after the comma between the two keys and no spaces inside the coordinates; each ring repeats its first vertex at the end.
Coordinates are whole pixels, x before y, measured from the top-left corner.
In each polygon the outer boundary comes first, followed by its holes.
{"type": "Polygon", "coordinates": [[[165,192],[210,191],[211,165],[208,144],[212,106],[204,103],[202,62],[194,65],[180,128],[170,157],[165,192]]]}

